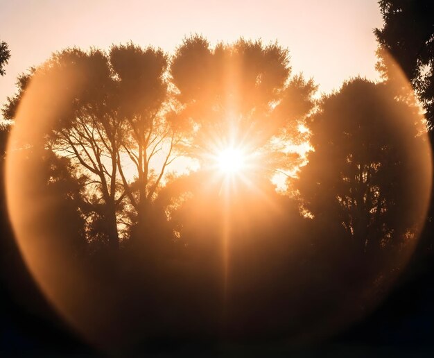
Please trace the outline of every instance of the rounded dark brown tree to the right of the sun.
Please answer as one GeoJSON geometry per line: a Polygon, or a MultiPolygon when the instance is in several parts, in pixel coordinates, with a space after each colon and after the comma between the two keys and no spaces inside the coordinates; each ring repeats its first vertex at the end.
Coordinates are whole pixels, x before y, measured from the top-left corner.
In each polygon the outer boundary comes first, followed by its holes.
{"type": "Polygon", "coordinates": [[[315,151],[298,180],[313,220],[359,253],[393,256],[413,245],[429,190],[417,106],[395,100],[385,84],[356,78],[320,108],[309,124],[315,151]]]}

